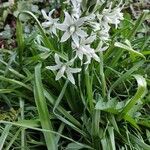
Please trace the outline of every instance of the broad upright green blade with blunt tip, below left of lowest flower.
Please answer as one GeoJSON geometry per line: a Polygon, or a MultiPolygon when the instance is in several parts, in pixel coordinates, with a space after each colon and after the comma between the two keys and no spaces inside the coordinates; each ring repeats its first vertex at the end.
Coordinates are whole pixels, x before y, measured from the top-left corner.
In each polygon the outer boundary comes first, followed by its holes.
{"type": "MultiPolygon", "coordinates": [[[[34,97],[43,129],[53,130],[41,81],[41,64],[35,67],[34,97]]],[[[57,150],[54,134],[43,132],[48,150],[57,150]]]]}

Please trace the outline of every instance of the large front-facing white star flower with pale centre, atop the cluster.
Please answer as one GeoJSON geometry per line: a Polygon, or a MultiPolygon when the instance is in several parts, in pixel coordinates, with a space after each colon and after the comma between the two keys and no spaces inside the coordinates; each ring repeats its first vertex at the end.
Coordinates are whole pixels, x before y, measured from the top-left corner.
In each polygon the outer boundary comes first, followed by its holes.
{"type": "Polygon", "coordinates": [[[85,18],[74,19],[67,12],[65,12],[65,20],[62,24],[57,24],[57,28],[61,31],[65,31],[61,37],[61,42],[65,42],[70,37],[74,42],[79,41],[79,37],[84,38],[87,33],[81,29],[85,18]]]}

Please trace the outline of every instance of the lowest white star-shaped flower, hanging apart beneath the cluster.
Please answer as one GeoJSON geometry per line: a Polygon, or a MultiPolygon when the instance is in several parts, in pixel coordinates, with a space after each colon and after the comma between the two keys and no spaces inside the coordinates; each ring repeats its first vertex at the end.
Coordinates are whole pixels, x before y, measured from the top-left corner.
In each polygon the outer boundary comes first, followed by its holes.
{"type": "Polygon", "coordinates": [[[56,62],[55,66],[47,66],[46,67],[47,69],[54,70],[54,71],[59,70],[57,72],[55,80],[59,80],[60,78],[64,77],[64,74],[66,73],[68,80],[72,84],[75,84],[75,80],[74,80],[74,77],[72,74],[80,72],[81,69],[70,67],[73,64],[74,59],[68,61],[67,63],[63,63],[60,61],[58,54],[55,54],[55,62],[56,62]]]}

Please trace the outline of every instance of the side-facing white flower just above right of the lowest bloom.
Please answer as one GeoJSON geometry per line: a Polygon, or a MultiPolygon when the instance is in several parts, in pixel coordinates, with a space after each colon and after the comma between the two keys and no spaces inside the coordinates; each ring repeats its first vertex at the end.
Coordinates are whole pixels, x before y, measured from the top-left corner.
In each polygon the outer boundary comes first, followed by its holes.
{"type": "Polygon", "coordinates": [[[79,57],[80,60],[83,60],[83,56],[86,56],[87,61],[85,64],[89,64],[91,62],[91,58],[100,62],[100,59],[96,55],[94,49],[90,47],[90,44],[95,40],[95,38],[96,36],[90,36],[88,38],[80,39],[80,42],[72,43],[72,48],[76,51],[76,57],[79,57]]]}

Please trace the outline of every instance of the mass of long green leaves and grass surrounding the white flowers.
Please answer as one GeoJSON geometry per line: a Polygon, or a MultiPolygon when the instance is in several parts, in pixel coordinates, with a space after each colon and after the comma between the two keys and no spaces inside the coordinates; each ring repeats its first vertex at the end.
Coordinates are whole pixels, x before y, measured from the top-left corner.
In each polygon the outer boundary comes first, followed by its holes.
{"type": "MultiPolygon", "coordinates": [[[[55,72],[45,68],[54,62],[54,52],[67,60],[70,43],[48,36],[38,2],[29,4],[18,1],[13,10],[19,14],[17,46],[0,48],[0,149],[149,150],[148,12],[137,20],[126,13],[119,30],[111,31],[109,49],[99,54],[100,63],[93,61],[73,85],[55,81],[55,72]],[[26,34],[30,21],[36,25],[26,34]]],[[[88,10],[96,7],[91,1],[88,10]]],[[[3,31],[6,39],[12,36],[8,32],[3,31]]]]}

